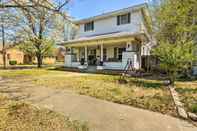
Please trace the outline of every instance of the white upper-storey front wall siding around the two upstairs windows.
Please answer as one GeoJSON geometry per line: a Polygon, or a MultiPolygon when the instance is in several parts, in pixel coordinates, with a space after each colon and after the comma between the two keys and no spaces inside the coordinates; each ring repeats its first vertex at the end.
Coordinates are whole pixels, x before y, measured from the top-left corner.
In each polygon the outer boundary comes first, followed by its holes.
{"type": "Polygon", "coordinates": [[[140,11],[131,13],[131,23],[125,25],[117,25],[117,16],[94,21],[94,31],[84,32],[84,24],[79,26],[77,38],[91,35],[99,35],[110,32],[140,32],[143,19],[140,11]]]}

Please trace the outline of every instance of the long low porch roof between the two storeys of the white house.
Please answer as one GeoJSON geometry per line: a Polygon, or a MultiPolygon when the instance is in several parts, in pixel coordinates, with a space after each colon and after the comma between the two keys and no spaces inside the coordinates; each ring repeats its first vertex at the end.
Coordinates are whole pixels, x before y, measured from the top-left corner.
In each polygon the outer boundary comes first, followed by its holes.
{"type": "Polygon", "coordinates": [[[63,42],[65,46],[79,46],[89,44],[105,44],[105,43],[116,43],[123,41],[132,41],[136,38],[146,37],[144,32],[132,33],[132,32],[114,32],[109,34],[94,35],[88,37],[80,37],[78,39],[69,40],[63,42]]]}

